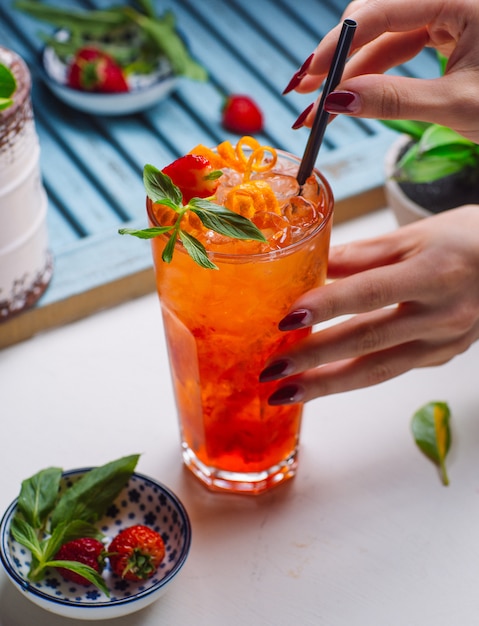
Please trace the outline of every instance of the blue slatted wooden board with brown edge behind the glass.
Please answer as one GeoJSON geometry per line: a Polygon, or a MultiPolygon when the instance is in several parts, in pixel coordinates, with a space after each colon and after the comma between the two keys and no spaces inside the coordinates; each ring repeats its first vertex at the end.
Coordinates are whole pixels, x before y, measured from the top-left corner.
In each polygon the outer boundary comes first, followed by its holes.
{"type": "MultiPolygon", "coordinates": [[[[104,8],[113,0],[48,0],[104,8]]],[[[221,127],[225,93],[252,96],[265,114],[261,142],[302,154],[306,129],[291,125],[313,100],[281,92],[291,75],[334,26],[345,0],[165,0],[209,81],[180,82],[147,112],[123,117],[79,113],[60,103],[41,80],[40,31],[49,26],[0,4],[0,44],[18,52],[33,76],[33,106],[41,167],[49,198],[54,278],[30,311],[0,326],[0,347],[79,319],[154,288],[148,242],[118,228],[146,225],[142,169],[163,167],[194,145],[233,142],[221,127]]],[[[435,76],[432,54],[396,70],[435,76]]],[[[337,118],[326,132],[318,165],[336,197],[336,221],[383,205],[382,161],[394,134],[375,120],[337,118]]]]}

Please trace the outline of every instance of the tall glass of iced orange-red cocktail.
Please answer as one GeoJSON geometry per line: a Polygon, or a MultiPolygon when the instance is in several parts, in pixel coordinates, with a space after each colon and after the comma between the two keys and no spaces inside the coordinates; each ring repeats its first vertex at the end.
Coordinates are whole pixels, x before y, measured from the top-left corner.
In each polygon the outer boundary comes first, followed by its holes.
{"type": "MultiPolygon", "coordinates": [[[[190,216],[214,270],[196,264],[181,243],[165,263],[167,235],[152,240],[183,458],[211,489],[260,493],[296,470],[303,407],[270,406],[277,383],[260,383],[259,374],[310,332],[281,332],[278,322],[325,281],[333,198],[318,172],[300,190],[298,159],[277,156],[246,182],[244,172],[223,167],[214,199],[248,214],[266,242],[225,237],[190,216]]],[[[165,206],[148,199],[147,207],[152,226],[169,219],[165,206]]]]}

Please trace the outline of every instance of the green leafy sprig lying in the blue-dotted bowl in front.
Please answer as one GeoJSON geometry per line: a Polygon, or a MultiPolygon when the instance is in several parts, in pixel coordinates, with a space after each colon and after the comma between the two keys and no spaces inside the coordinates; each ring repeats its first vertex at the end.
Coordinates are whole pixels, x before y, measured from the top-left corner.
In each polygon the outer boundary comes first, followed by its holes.
{"type": "Polygon", "coordinates": [[[135,454],[96,467],[61,495],[60,468],[49,467],[22,482],[10,532],[32,554],[29,580],[41,580],[49,567],[63,567],[95,584],[106,596],[110,595],[105,581],[92,567],[54,557],[63,544],[73,539],[102,539],[94,524],[127,484],[138,459],[139,455],[135,454]]]}

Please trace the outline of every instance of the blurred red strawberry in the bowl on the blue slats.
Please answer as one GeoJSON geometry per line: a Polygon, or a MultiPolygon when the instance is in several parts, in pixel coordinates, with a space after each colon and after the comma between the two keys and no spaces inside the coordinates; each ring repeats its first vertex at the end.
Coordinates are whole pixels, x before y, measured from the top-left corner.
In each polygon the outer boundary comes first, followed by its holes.
{"type": "Polygon", "coordinates": [[[75,54],[68,68],[67,83],[81,91],[121,93],[129,90],[121,67],[110,55],[93,47],[81,48],[75,54]]]}

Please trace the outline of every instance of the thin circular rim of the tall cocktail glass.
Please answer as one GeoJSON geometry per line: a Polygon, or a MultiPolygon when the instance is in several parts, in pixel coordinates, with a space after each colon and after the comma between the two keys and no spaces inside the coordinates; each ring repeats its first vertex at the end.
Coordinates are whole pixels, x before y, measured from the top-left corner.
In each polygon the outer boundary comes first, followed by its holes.
{"type": "MultiPolygon", "coordinates": [[[[290,153],[290,152],[286,152],[285,150],[275,150],[275,152],[278,155],[287,157],[289,160],[292,161],[296,161],[298,163],[298,166],[301,162],[301,159],[299,157],[297,157],[296,155],[290,153]]],[[[310,241],[312,238],[316,237],[318,232],[324,230],[326,228],[326,226],[330,223],[330,221],[332,220],[333,217],[333,211],[334,211],[334,194],[333,191],[331,189],[331,185],[329,184],[328,180],[326,179],[326,177],[324,176],[324,174],[322,174],[322,172],[319,171],[319,169],[317,169],[316,167],[313,168],[312,174],[314,174],[317,178],[317,180],[319,181],[322,189],[324,192],[326,192],[326,202],[325,202],[325,208],[327,209],[327,211],[323,214],[323,219],[317,224],[317,226],[311,230],[305,237],[299,239],[298,241],[295,241],[291,244],[289,244],[288,246],[285,246],[284,248],[275,248],[274,250],[269,250],[267,252],[247,252],[247,253],[234,253],[234,252],[220,252],[220,251],[216,251],[216,250],[208,250],[208,248],[206,248],[206,252],[208,254],[208,257],[211,259],[217,259],[218,261],[235,261],[236,263],[238,262],[247,262],[250,259],[254,259],[256,262],[258,261],[268,261],[268,260],[272,260],[278,256],[286,256],[287,254],[292,254],[298,247],[303,246],[304,244],[306,244],[308,241],[310,241]]],[[[150,198],[150,197],[146,197],[146,212],[148,215],[148,219],[150,220],[151,224],[153,225],[153,227],[158,227],[161,226],[152,211],[152,206],[155,204],[155,202],[150,198]]],[[[158,238],[164,238],[165,240],[169,239],[169,235],[168,233],[163,233],[161,235],[157,236],[158,238]]],[[[240,241],[240,240],[238,240],[240,241]]],[[[206,246],[205,246],[206,247],[206,246]]],[[[186,249],[184,247],[184,245],[181,243],[181,241],[177,241],[175,244],[175,249],[177,249],[178,251],[187,254],[186,249]]]]}

